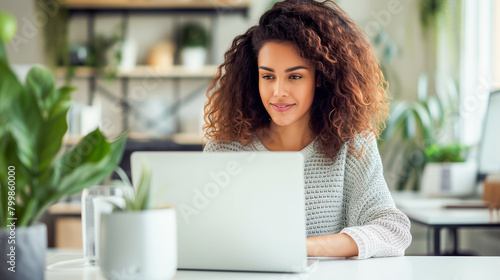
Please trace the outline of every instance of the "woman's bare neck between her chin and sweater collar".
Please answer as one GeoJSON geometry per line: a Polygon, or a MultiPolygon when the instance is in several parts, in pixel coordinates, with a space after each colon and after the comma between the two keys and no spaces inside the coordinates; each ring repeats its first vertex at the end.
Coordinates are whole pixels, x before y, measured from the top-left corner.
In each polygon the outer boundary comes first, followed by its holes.
{"type": "Polygon", "coordinates": [[[279,127],[271,122],[270,126],[257,133],[261,143],[269,151],[300,151],[307,147],[316,135],[306,127],[279,127]]]}

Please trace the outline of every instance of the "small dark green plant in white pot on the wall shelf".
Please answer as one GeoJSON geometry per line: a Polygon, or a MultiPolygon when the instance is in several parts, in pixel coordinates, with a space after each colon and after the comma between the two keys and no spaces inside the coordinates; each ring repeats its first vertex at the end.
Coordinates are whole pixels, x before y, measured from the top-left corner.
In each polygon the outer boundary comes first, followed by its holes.
{"type": "Polygon", "coordinates": [[[208,36],[199,24],[186,24],[181,31],[181,60],[189,71],[199,71],[207,60],[208,36]]]}

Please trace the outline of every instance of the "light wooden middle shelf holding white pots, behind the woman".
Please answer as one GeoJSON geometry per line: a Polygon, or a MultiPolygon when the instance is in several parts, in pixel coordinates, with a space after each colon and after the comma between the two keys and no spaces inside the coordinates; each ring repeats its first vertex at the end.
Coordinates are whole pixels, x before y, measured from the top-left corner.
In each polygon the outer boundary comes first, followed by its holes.
{"type": "MultiPolygon", "coordinates": [[[[216,65],[207,65],[200,70],[191,71],[184,66],[176,65],[167,69],[156,69],[147,65],[139,65],[131,71],[119,71],[118,78],[213,78],[217,73],[216,65]]],[[[56,76],[64,77],[66,68],[57,69],[56,76]]],[[[96,70],[91,67],[76,67],[75,78],[91,78],[98,76],[96,70]]]]}

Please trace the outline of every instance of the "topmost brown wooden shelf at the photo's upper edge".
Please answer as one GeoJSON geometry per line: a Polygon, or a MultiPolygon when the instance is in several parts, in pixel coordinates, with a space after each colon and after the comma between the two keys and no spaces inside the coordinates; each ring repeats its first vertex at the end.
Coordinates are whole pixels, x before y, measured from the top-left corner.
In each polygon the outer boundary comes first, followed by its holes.
{"type": "Polygon", "coordinates": [[[250,1],[241,0],[67,0],[69,9],[200,9],[248,8],[250,1]]]}

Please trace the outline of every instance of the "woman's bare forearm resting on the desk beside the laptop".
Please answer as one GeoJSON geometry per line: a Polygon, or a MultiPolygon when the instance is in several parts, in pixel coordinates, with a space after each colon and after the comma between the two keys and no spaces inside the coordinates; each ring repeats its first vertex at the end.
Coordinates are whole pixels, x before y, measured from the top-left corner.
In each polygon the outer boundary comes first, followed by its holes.
{"type": "Polygon", "coordinates": [[[307,255],[315,257],[354,257],[358,245],[345,233],[307,238],[307,255]]]}

